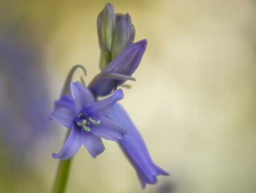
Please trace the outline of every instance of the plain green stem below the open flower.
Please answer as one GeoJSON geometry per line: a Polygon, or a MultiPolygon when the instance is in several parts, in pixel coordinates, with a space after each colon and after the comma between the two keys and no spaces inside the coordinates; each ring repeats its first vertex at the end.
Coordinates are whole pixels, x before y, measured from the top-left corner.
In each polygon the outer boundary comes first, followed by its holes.
{"type": "MultiPolygon", "coordinates": [[[[67,132],[66,138],[70,135],[70,132],[67,132]]],[[[65,140],[66,141],[66,140],[65,140]]],[[[68,176],[70,174],[71,160],[60,160],[58,162],[57,174],[55,177],[55,182],[53,185],[52,193],[64,193],[66,192],[68,176]]]]}

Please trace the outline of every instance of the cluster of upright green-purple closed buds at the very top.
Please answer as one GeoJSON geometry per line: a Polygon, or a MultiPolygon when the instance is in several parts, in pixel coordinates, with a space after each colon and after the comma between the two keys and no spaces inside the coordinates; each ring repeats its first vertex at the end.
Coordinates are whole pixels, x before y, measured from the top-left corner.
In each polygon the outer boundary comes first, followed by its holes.
{"type": "Polygon", "coordinates": [[[129,13],[115,14],[114,6],[107,3],[97,17],[97,33],[102,71],[122,50],[134,43],[135,27],[129,13]]]}

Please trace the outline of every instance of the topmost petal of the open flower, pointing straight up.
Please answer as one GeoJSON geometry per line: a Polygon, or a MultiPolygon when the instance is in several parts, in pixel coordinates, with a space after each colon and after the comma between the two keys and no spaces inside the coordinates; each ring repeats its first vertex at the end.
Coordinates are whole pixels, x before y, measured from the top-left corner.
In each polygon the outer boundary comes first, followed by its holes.
{"type": "Polygon", "coordinates": [[[81,82],[73,82],[72,90],[76,104],[76,115],[84,108],[90,109],[93,107],[92,94],[81,82]]]}

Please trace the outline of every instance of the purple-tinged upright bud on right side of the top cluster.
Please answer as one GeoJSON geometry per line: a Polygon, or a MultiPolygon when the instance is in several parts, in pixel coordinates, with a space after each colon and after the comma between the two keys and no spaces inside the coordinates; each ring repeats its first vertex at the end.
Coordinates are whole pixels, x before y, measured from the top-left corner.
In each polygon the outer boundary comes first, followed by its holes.
{"type": "MultiPolygon", "coordinates": [[[[118,21],[120,16],[116,15],[116,22],[118,21]]],[[[114,45],[112,48],[112,58],[121,53],[127,46],[134,42],[135,37],[135,29],[134,25],[132,25],[131,17],[129,13],[124,14],[116,29],[116,35],[114,40],[114,45]]]]}

